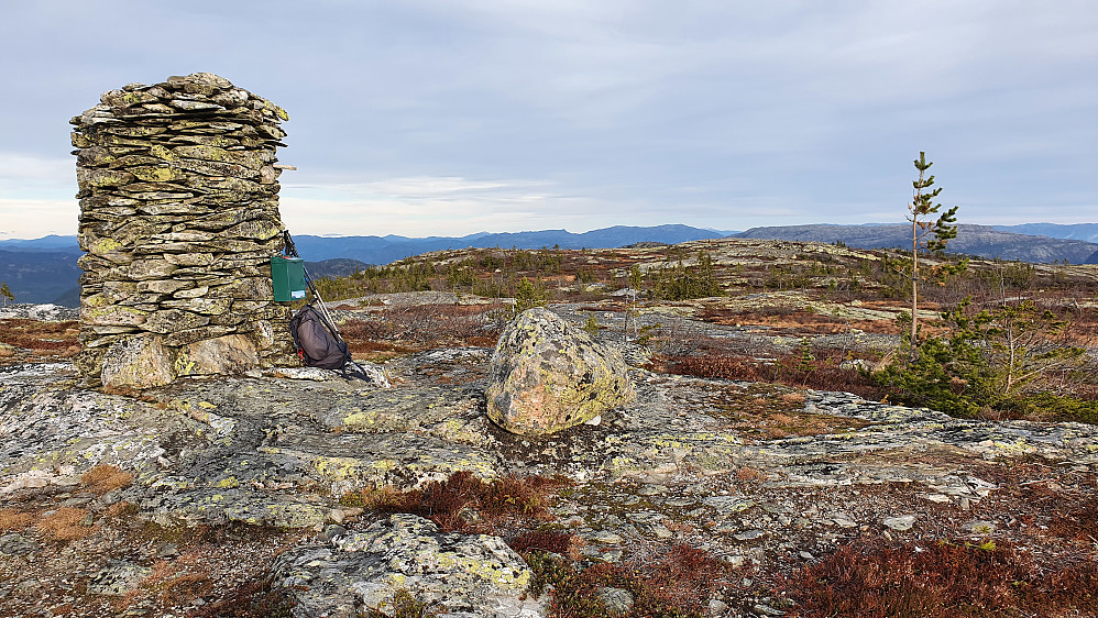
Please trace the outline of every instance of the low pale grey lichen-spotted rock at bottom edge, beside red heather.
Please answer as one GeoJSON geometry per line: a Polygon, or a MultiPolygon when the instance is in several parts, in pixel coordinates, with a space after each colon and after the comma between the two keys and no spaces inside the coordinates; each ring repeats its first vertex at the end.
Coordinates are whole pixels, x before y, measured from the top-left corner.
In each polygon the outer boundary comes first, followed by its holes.
{"type": "Polygon", "coordinates": [[[295,617],[391,613],[400,592],[448,615],[546,615],[527,598],[529,566],[498,537],[441,532],[421,517],[397,514],[332,545],[296,548],[275,562],[274,583],[293,597],[295,617]]]}

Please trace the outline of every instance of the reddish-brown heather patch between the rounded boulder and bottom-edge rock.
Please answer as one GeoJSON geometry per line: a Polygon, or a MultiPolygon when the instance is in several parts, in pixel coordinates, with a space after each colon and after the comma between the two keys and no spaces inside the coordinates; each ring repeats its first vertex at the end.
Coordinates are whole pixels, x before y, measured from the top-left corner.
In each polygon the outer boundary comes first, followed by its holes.
{"type": "MultiPolygon", "coordinates": [[[[538,476],[481,479],[459,472],[422,488],[388,487],[345,494],[340,503],[375,514],[409,512],[430,519],[442,531],[502,536],[520,552],[535,573],[530,593],[550,591],[551,611],[559,617],[605,616],[597,591],[628,591],[628,617],[701,617],[713,591],[726,586],[732,569],[707,553],[674,545],[665,558],[627,564],[590,564],[577,560],[580,539],[562,529],[548,511],[556,492],[570,482],[538,476]]],[[[413,597],[394,600],[394,616],[430,616],[413,597]],[[399,602],[399,603],[397,603],[399,602]]]]}

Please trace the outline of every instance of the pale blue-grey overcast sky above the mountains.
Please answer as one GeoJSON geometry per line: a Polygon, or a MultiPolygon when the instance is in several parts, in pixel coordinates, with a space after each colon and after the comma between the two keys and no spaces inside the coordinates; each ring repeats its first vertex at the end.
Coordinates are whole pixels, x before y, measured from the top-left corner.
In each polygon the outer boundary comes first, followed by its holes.
{"type": "Polygon", "coordinates": [[[1098,221],[1094,0],[0,0],[0,239],[76,233],[68,119],[216,73],[284,107],[296,233],[1098,221]]]}

